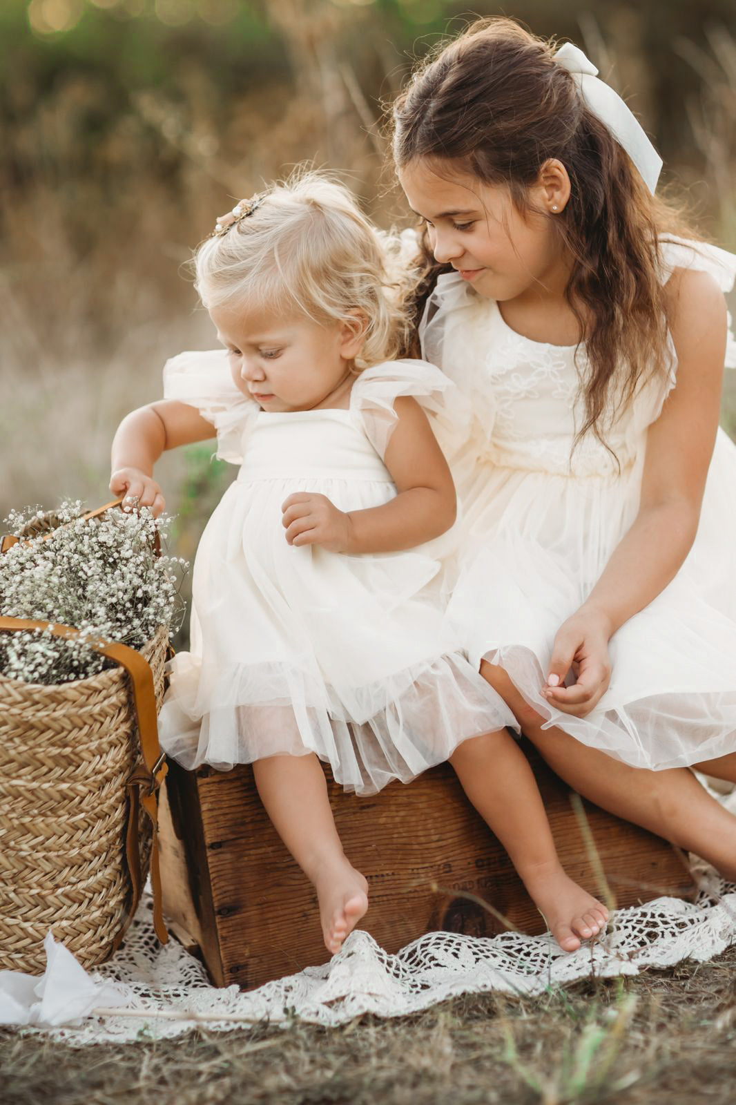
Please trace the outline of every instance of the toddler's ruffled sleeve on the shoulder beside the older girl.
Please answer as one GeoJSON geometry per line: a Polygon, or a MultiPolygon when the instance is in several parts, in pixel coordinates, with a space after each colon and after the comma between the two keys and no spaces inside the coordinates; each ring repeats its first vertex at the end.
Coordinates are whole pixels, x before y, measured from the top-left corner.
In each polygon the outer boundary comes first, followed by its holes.
{"type": "Polygon", "coordinates": [[[393,404],[400,396],[412,396],[429,415],[445,455],[466,439],[470,403],[444,372],[424,360],[386,361],[365,369],[350,394],[350,409],[381,459],[399,421],[393,404]]]}

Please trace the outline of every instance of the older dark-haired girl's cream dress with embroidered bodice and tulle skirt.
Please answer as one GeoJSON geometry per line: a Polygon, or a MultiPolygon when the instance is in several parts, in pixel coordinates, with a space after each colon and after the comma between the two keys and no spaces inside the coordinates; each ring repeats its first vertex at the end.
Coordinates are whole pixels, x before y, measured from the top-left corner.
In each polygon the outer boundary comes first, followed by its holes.
{"type": "MultiPolygon", "coordinates": [[[[724,250],[671,239],[662,253],[663,281],[692,267],[712,273],[724,292],[734,284],[736,256],[724,250]]],[[[420,337],[423,356],[476,414],[451,459],[465,517],[449,604],[473,666],[482,657],[501,664],[547,727],[637,767],[736,751],[736,446],[723,430],[692,551],[611,639],[612,677],[598,707],[572,717],[539,693],[557,630],[637,515],[646,429],[676,383],[672,341],[669,379],[641,388],[607,434],[619,472],[593,438],[571,454],[580,412],[572,347],[522,337],[454,273],[439,277],[420,337]]],[[[729,336],[732,367],[735,354],[729,336]]]]}

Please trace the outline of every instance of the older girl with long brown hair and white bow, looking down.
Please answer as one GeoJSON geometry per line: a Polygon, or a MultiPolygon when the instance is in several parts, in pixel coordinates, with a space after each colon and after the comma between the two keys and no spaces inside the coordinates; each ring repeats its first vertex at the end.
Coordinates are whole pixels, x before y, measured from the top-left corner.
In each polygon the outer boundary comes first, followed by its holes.
{"type": "Polygon", "coordinates": [[[684,770],[736,781],[736,257],[673,232],[596,73],[481,20],[396,104],[422,351],[477,415],[450,615],[561,776],[736,877],[736,822],[684,770]]]}

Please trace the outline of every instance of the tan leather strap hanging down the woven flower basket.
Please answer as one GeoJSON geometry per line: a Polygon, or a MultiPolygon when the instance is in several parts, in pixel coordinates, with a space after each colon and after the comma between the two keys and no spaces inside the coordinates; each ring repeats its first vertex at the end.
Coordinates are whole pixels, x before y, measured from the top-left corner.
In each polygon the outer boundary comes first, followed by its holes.
{"type": "MultiPolygon", "coordinates": [[[[105,507],[106,509],[106,507],[105,507]]],[[[21,630],[49,629],[55,636],[75,638],[80,631],[71,625],[60,625],[54,622],[33,621],[27,618],[0,617],[0,631],[19,632],[21,630]]],[[[141,892],[140,854],[138,849],[138,802],[144,807],[151,822],[150,881],[154,892],[154,927],[161,944],[168,943],[168,933],[164,924],[161,908],[161,877],[158,863],[158,790],[166,778],[168,766],[158,743],[158,720],[156,711],[156,693],[154,676],[147,661],[135,649],[115,641],[90,642],[90,646],[103,656],[108,656],[125,669],[130,676],[133,686],[133,703],[140,738],[143,764],[138,762],[132,771],[127,789],[128,825],[126,832],[126,859],[133,884],[133,901],[130,915],[135,913],[141,892]]],[[[115,940],[117,947],[123,939],[125,926],[115,940]]]]}

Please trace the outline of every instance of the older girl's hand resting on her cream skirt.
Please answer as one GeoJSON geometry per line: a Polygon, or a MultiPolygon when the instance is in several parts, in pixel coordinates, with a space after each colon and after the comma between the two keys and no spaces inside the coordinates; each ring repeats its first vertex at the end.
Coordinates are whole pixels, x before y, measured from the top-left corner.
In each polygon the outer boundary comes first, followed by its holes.
{"type": "Polygon", "coordinates": [[[611,681],[608,652],[610,627],[600,613],[578,610],[557,631],[547,683],[542,694],[557,709],[586,717],[596,708],[611,681]],[[572,669],[575,683],[562,686],[572,669]]]}

